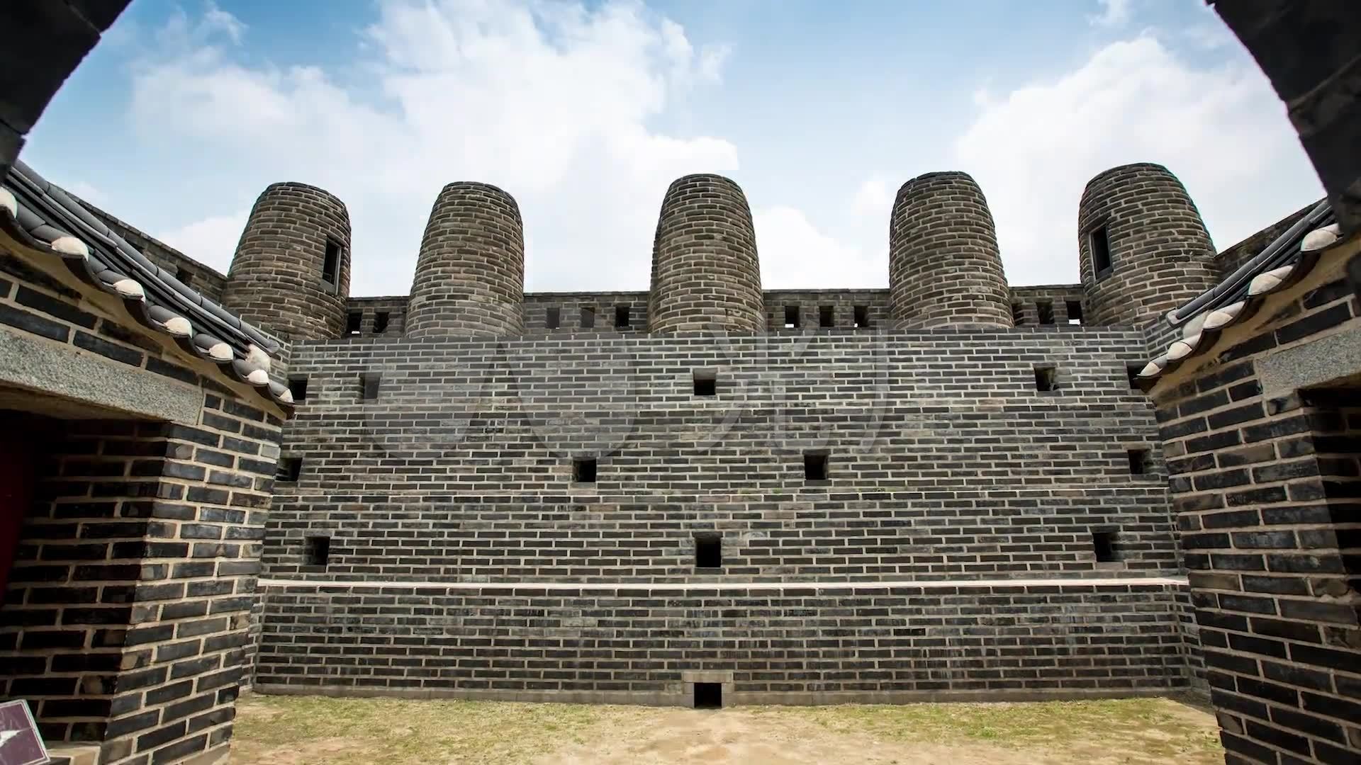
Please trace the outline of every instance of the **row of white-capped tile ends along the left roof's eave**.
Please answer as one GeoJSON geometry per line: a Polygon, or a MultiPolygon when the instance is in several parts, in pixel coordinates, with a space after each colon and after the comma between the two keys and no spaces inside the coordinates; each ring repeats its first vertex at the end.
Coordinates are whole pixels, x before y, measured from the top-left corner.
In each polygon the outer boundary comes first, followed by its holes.
{"type": "Polygon", "coordinates": [[[249,382],[261,395],[293,414],[293,393],[286,385],[269,380],[269,355],[259,346],[250,346],[245,357],[225,340],[204,332],[195,332],[193,324],[178,312],[147,299],[146,289],[135,279],[109,268],[91,253],[90,246],[71,235],[57,235],[45,242],[24,230],[18,218],[18,203],[8,189],[0,189],[0,231],[35,253],[37,257],[63,263],[78,279],[98,287],[122,301],[133,321],[174,339],[186,354],[216,365],[220,374],[249,382]]]}

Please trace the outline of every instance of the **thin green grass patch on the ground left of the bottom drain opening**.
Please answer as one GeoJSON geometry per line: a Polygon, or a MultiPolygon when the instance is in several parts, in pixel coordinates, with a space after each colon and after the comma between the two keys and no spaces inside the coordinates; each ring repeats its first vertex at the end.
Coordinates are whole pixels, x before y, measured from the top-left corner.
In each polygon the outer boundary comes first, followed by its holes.
{"type": "Polygon", "coordinates": [[[499,701],[407,701],[242,696],[233,761],[519,764],[584,742],[606,706],[499,701]]]}

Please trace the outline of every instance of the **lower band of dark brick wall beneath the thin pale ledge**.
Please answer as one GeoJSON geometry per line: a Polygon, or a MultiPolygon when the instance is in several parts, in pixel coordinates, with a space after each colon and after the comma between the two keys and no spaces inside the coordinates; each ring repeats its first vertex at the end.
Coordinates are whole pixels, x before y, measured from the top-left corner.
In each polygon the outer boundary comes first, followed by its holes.
{"type": "Polygon", "coordinates": [[[770,588],[268,584],[265,690],[689,704],[1185,683],[1176,585],[770,588]]]}

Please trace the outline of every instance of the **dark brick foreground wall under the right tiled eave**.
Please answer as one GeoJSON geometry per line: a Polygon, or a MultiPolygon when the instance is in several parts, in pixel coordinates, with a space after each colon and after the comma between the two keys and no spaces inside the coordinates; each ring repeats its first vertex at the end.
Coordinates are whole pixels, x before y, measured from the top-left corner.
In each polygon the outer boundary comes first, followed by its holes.
{"type": "Polygon", "coordinates": [[[1301,284],[1153,389],[1229,762],[1361,757],[1361,388],[1259,369],[1357,313],[1345,282],[1301,284]]]}

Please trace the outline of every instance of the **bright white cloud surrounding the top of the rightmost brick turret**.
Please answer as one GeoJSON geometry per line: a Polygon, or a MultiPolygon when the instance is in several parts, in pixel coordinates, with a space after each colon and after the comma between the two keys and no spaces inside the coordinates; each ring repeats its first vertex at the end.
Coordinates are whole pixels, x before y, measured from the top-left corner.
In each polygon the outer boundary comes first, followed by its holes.
{"type": "Polygon", "coordinates": [[[1013,284],[1078,280],[1078,200],[1116,165],[1176,173],[1219,249],[1323,196],[1251,61],[1198,68],[1143,35],[981,103],[954,154],[988,197],[1013,284]]]}

